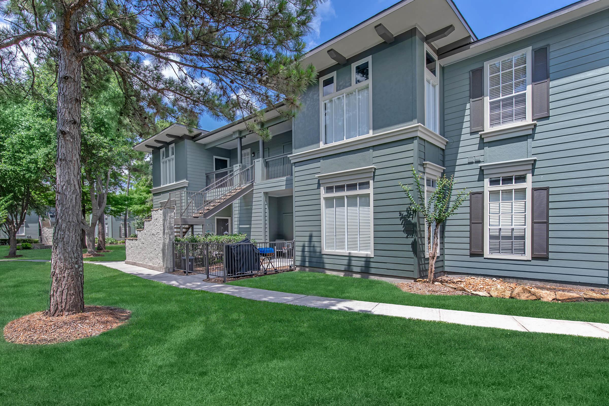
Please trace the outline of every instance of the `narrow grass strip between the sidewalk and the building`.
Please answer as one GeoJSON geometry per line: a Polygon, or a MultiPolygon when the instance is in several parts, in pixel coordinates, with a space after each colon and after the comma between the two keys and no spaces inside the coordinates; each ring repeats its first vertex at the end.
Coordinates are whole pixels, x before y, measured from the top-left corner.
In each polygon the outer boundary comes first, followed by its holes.
{"type": "Polygon", "coordinates": [[[286,272],[259,278],[241,279],[240,281],[230,282],[230,284],[329,298],[609,323],[609,303],[607,302],[547,303],[482,298],[480,296],[416,295],[403,292],[389,282],[315,272],[286,272]]]}

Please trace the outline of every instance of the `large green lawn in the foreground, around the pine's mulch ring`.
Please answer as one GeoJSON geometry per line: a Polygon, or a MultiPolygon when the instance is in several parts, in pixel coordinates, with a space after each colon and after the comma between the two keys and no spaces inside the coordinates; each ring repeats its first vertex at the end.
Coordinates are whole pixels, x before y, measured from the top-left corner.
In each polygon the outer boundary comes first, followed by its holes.
{"type": "MultiPolygon", "coordinates": [[[[49,270],[0,263],[0,325],[48,306],[49,270]]],[[[609,340],[598,338],[250,301],[92,264],[85,301],[132,319],[72,343],[0,340],[3,406],[556,406],[609,396],[609,340]]]]}

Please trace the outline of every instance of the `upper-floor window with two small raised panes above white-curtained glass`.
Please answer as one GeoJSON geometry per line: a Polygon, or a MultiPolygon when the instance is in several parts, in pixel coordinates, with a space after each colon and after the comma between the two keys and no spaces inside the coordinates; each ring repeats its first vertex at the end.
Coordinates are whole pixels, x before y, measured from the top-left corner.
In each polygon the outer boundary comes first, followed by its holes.
{"type": "Polygon", "coordinates": [[[336,72],[320,79],[322,142],[332,144],[371,133],[370,57],[351,65],[351,86],[336,90],[336,72]]]}

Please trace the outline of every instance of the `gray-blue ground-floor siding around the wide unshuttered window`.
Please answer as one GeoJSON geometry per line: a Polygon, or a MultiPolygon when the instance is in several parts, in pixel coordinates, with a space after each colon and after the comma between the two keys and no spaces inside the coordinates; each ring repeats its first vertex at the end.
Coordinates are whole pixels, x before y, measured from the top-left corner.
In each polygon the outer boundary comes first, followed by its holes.
{"type": "MultiPolygon", "coordinates": [[[[298,266],[373,275],[414,276],[415,226],[412,219],[407,217],[409,205],[398,185],[399,181],[412,183],[410,166],[414,162],[413,145],[413,140],[409,139],[372,148],[371,164],[376,166],[373,183],[374,257],[322,254],[320,186],[315,177],[321,173],[322,165],[319,160],[295,164],[294,234],[298,266]]],[[[362,162],[360,165],[368,164],[362,162]]]]}

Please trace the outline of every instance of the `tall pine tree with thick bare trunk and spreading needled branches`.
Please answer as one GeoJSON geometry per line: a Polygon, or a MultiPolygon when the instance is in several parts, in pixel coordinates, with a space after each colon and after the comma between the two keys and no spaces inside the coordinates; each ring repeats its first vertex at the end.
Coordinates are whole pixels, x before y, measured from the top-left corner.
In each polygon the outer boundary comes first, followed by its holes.
{"type": "Polygon", "coordinates": [[[201,113],[263,138],[264,107],[291,116],[315,80],[301,67],[317,0],[2,0],[0,86],[18,88],[37,63],[57,70],[57,223],[48,314],[82,312],[80,108],[115,75],[141,134],[155,119],[192,126],[201,113]]]}

